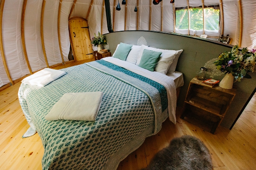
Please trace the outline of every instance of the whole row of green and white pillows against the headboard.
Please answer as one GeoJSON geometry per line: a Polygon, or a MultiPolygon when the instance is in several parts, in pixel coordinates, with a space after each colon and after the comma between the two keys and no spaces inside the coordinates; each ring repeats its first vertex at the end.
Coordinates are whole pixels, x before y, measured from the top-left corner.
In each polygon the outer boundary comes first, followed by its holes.
{"type": "Polygon", "coordinates": [[[175,71],[178,58],[183,50],[165,50],[146,45],[128,45],[120,43],[113,57],[136,64],[150,71],[167,74],[175,71]]]}

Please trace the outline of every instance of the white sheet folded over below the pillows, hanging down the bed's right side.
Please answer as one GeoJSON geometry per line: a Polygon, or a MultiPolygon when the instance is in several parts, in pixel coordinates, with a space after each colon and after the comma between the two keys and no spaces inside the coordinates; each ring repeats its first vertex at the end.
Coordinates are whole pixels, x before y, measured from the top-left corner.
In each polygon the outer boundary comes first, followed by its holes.
{"type": "Polygon", "coordinates": [[[152,71],[146,70],[135,64],[132,64],[114,57],[105,57],[101,60],[111,62],[117,66],[123,67],[129,71],[132,71],[136,74],[147,77],[148,79],[151,79],[163,85],[167,91],[169,120],[172,121],[174,124],[176,124],[177,96],[176,96],[176,85],[172,77],[168,77],[167,75],[162,74],[160,72],[155,72],[155,71],[152,72],[152,71]]]}

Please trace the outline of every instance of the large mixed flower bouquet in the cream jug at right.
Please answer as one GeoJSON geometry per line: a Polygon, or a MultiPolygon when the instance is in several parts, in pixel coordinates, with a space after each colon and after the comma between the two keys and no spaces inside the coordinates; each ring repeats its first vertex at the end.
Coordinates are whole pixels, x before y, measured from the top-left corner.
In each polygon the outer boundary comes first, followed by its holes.
{"type": "Polygon", "coordinates": [[[231,52],[221,53],[218,60],[213,63],[221,72],[232,73],[238,81],[241,81],[242,78],[251,79],[252,77],[247,72],[254,72],[256,50],[248,51],[247,48],[239,50],[238,45],[235,45],[231,52]]]}

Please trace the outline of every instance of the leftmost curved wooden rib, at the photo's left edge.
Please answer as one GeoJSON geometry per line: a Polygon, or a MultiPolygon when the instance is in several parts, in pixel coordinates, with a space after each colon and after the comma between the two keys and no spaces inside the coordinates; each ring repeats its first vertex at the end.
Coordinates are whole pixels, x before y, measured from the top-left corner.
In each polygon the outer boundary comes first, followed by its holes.
{"type": "Polygon", "coordinates": [[[7,77],[9,79],[9,81],[11,82],[11,84],[14,85],[13,80],[11,79],[11,75],[10,75],[9,69],[7,67],[7,63],[6,63],[5,55],[4,55],[4,45],[3,45],[3,37],[2,37],[3,11],[4,11],[4,0],[1,0],[0,1],[0,52],[1,52],[2,62],[4,64],[4,69],[7,74],[7,77]]]}

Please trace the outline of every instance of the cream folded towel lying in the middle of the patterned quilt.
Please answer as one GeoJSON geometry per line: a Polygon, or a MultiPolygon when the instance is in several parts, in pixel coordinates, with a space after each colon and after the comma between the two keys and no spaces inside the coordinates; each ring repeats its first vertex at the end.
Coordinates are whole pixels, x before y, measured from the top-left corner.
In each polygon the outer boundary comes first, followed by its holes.
{"type": "Polygon", "coordinates": [[[103,93],[83,92],[65,93],[61,99],[54,104],[46,120],[78,120],[95,121],[102,101],[103,93]]]}

